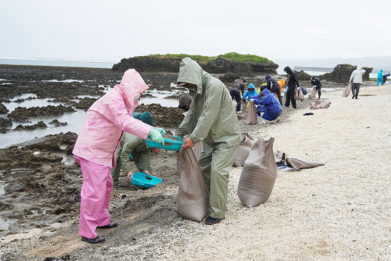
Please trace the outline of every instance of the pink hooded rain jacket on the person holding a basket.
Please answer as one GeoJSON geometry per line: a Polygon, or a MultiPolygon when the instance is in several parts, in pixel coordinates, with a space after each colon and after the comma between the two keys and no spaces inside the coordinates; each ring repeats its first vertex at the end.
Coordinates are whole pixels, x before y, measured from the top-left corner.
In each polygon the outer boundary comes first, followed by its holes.
{"type": "Polygon", "coordinates": [[[146,139],[153,128],[131,117],[138,106],[134,97],[148,88],[136,70],[125,71],[121,84],[115,85],[114,90],[89,107],[73,154],[103,166],[115,167],[116,150],[123,131],[146,139]]]}

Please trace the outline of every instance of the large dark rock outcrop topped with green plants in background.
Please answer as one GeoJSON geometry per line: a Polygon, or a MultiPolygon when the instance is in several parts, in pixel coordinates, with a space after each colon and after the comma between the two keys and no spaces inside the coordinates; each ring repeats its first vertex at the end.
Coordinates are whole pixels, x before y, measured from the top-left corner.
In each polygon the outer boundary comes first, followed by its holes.
{"type": "MultiPolygon", "coordinates": [[[[138,72],[178,72],[181,60],[181,58],[137,56],[122,59],[120,63],[113,65],[111,70],[126,71],[134,68],[138,72]]],[[[204,71],[209,73],[232,72],[248,77],[257,74],[277,74],[278,68],[278,64],[274,63],[247,63],[222,57],[197,62],[204,71]]]]}

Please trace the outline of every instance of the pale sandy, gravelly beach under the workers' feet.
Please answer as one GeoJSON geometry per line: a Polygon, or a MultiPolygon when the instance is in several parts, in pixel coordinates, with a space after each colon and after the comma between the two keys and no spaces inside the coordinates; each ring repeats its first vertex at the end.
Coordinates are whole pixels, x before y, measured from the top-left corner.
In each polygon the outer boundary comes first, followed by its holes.
{"type": "MultiPolygon", "coordinates": [[[[2,233],[0,259],[389,260],[391,112],[386,104],[391,95],[390,86],[374,85],[365,82],[357,100],[331,98],[327,109],[310,111],[310,100],[298,101],[296,110],[284,107],[277,124],[239,121],[242,131],[254,139],[274,137],[274,150],[326,163],[301,171],[278,170],[270,198],[258,207],[241,204],[241,168],[232,168],[226,219],[208,226],[182,218],[176,212],[176,154],[160,152],[152,161],[160,162],[157,172],[165,173],[167,182],[148,190],[129,189],[122,176],[109,209],[119,226],[99,232],[105,243],[91,246],[80,240],[77,211],[61,212],[56,218],[46,212],[42,215],[50,220],[48,225],[2,233]],[[303,116],[307,112],[314,115],[303,116]]],[[[81,171],[75,169],[61,169],[64,182],[77,187],[69,192],[72,195],[80,193],[82,184],[81,171]]],[[[55,174],[41,172],[28,175],[55,174]]],[[[59,190],[61,182],[61,177],[54,182],[59,190]]],[[[65,183],[64,191],[70,186],[65,183]]],[[[33,205],[28,200],[40,191],[26,191],[18,202],[33,205]]],[[[27,221],[29,213],[18,218],[27,221]]],[[[34,220],[27,223],[38,222],[34,220]]]]}

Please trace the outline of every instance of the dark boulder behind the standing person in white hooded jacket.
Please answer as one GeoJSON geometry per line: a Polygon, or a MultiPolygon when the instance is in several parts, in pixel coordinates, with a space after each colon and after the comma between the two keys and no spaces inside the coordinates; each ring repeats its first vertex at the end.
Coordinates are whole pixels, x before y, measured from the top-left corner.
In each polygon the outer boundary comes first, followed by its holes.
{"type": "MultiPolygon", "coordinates": [[[[346,83],[349,81],[351,73],[357,69],[357,66],[350,64],[339,64],[334,67],[332,72],[319,75],[319,79],[333,82],[346,83]]],[[[372,72],[372,67],[363,67],[365,73],[363,74],[363,81],[369,81],[369,73],[372,72]]]]}

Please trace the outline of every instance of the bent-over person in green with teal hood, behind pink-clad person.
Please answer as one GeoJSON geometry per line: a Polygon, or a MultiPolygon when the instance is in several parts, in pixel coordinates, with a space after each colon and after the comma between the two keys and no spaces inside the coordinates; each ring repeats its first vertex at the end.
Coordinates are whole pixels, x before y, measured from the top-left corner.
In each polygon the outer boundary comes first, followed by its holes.
{"type": "MultiPolygon", "coordinates": [[[[150,112],[132,113],[132,116],[134,119],[139,119],[144,123],[153,126],[152,114],[150,112]]],[[[111,168],[114,188],[118,185],[121,166],[127,173],[130,183],[132,182],[131,178],[133,172],[131,171],[132,164],[129,155],[133,158],[138,171],[147,175],[152,175],[151,154],[145,140],[128,132],[124,132],[117,147],[116,165],[111,168]]]]}

